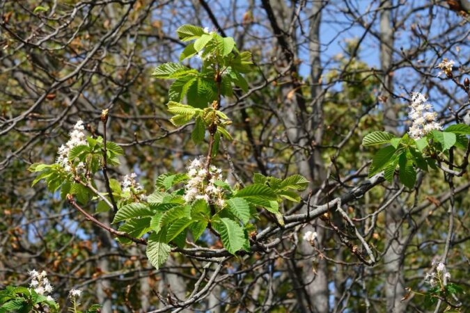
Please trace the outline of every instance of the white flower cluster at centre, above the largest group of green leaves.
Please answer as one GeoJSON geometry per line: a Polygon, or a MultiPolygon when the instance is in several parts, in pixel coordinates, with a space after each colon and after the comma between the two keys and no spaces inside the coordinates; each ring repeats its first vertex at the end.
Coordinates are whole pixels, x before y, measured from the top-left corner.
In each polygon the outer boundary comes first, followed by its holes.
{"type": "Polygon", "coordinates": [[[219,207],[224,207],[223,189],[215,186],[217,180],[223,180],[222,170],[215,166],[210,166],[209,172],[205,168],[205,157],[194,159],[187,168],[189,180],[185,186],[185,201],[191,202],[203,199],[207,203],[214,203],[219,207]],[[207,177],[209,180],[207,182],[207,177]]]}

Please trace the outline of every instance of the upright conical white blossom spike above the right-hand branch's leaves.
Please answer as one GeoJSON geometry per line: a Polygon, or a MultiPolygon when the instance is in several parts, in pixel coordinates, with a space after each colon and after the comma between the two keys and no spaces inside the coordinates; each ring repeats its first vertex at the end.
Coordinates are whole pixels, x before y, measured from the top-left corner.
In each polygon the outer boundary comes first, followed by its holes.
{"type": "Polygon", "coordinates": [[[411,108],[409,118],[412,119],[413,125],[409,127],[408,134],[412,138],[419,139],[434,129],[442,128],[439,122],[436,122],[437,113],[434,112],[432,104],[428,103],[428,99],[421,93],[412,93],[411,108]]]}

